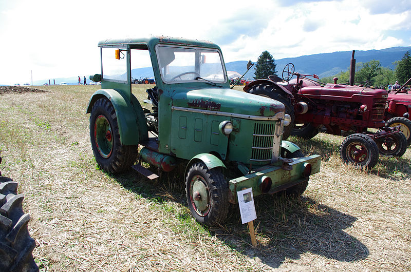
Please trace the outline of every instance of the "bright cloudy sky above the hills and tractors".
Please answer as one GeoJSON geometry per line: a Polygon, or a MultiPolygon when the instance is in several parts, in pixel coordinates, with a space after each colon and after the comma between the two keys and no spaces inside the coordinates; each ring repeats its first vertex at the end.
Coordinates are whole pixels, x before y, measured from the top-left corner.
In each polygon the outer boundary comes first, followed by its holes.
{"type": "Polygon", "coordinates": [[[88,78],[99,41],[149,35],[214,42],[226,63],[411,46],[411,1],[0,0],[0,84],[88,78]]]}

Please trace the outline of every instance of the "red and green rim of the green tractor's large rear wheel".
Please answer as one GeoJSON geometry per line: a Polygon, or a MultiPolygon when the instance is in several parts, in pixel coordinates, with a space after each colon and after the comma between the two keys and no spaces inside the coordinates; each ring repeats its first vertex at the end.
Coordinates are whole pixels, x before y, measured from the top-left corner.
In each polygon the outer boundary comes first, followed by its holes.
{"type": "Polygon", "coordinates": [[[113,133],[110,123],[104,115],[99,115],[94,124],[94,138],[100,156],[108,158],[113,152],[113,133]]]}

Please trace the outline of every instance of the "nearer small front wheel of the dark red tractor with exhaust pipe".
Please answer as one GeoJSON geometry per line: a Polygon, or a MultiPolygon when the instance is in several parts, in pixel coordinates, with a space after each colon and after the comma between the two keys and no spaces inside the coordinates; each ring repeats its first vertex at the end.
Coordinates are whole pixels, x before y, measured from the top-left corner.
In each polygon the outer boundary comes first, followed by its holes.
{"type": "Polygon", "coordinates": [[[348,135],[340,146],[340,157],[354,167],[371,169],[376,166],[379,153],[377,144],[371,137],[361,133],[348,135]]]}

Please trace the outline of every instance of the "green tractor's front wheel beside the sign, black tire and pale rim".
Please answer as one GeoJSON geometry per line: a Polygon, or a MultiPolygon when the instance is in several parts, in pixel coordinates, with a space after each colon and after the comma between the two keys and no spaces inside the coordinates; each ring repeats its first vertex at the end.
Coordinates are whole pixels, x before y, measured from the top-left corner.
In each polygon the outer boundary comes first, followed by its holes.
{"type": "Polygon", "coordinates": [[[219,168],[198,162],[188,171],[185,192],[193,217],[207,226],[221,224],[229,209],[228,183],[219,168]]]}

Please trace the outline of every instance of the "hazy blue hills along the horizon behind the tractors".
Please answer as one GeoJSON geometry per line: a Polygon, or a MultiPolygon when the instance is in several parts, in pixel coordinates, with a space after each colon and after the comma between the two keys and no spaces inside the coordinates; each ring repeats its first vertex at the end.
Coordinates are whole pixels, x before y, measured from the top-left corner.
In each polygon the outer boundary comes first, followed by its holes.
{"type": "MultiPolygon", "coordinates": [[[[367,51],[356,51],[354,57],[356,63],[360,62],[369,62],[371,60],[380,61],[381,66],[389,67],[394,69],[393,63],[399,61],[404,56],[405,52],[411,51],[411,47],[391,47],[381,50],[367,50],[367,51]]],[[[270,52],[275,58],[275,52],[270,52]]],[[[341,71],[346,71],[350,65],[352,51],[344,52],[332,52],[332,53],[323,53],[323,54],[314,54],[314,55],[305,55],[298,57],[287,57],[285,59],[275,60],[276,71],[279,76],[283,71],[283,68],[288,63],[293,63],[295,66],[295,71],[300,73],[307,74],[317,74],[322,77],[331,76],[338,74],[341,71]]],[[[235,71],[240,74],[243,74],[247,68],[248,61],[236,61],[226,63],[227,71],[235,71]]],[[[254,76],[254,67],[245,75],[245,79],[252,79],[254,76]]],[[[90,73],[91,74],[91,73],[90,73]]],[[[135,79],[141,79],[144,77],[153,77],[153,69],[151,67],[138,68],[132,70],[132,77],[135,79]]],[[[34,85],[42,85],[48,80],[34,81],[34,85]]],[[[61,82],[67,82],[67,84],[78,84],[77,76],[64,77],[55,79],[56,84],[61,82]]],[[[82,77],[83,82],[83,77],[82,77]]],[[[87,76],[87,83],[89,82],[87,76]]],[[[53,81],[51,80],[51,84],[53,81]]]]}

